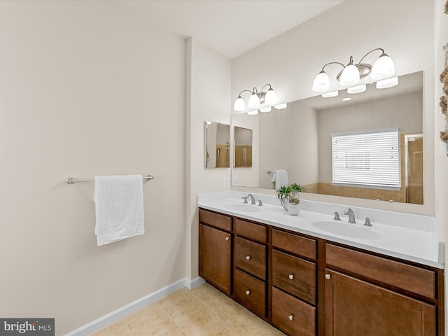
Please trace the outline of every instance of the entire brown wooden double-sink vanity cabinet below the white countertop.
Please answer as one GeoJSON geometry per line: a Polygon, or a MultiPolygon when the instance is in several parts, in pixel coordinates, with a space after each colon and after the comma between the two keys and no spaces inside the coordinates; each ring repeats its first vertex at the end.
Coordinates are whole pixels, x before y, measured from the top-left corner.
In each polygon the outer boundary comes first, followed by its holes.
{"type": "Polygon", "coordinates": [[[442,336],[443,270],[200,209],[200,276],[290,336],[442,336]]]}

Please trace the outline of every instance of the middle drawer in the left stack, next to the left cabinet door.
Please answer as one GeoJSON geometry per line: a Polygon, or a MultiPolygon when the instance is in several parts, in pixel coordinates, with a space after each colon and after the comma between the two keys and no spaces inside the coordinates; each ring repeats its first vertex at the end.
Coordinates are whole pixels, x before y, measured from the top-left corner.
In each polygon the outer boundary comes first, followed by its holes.
{"type": "Polygon", "coordinates": [[[266,279],[266,246],[235,237],[235,266],[266,279]]]}

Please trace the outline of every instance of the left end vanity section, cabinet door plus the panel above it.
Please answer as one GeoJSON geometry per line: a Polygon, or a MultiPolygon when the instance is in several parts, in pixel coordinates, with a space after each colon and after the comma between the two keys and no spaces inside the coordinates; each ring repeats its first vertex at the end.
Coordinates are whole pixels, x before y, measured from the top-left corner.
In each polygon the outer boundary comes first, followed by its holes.
{"type": "Polygon", "coordinates": [[[199,275],[230,295],[232,217],[200,209],[199,218],[199,275]]]}

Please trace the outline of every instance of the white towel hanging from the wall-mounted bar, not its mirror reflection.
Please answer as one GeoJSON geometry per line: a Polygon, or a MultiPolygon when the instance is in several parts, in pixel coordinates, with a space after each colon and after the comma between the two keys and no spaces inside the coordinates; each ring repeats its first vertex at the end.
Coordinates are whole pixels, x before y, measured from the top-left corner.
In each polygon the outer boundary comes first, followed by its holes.
{"type": "Polygon", "coordinates": [[[141,175],[95,177],[93,200],[98,246],[145,233],[141,175]]]}

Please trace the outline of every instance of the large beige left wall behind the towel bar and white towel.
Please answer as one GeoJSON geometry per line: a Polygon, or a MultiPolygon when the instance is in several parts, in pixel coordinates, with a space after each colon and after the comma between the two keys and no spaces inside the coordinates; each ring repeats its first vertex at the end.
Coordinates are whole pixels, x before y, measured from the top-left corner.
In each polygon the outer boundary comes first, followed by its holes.
{"type": "MultiPolygon", "coordinates": [[[[185,45],[106,1],[0,1],[0,316],[56,335],[186,276],[185,45]],[[93,183],[153,174],[97,247],[93,183]]],[[[202,130],[198,130],[202,132],[202,130]]]]}

